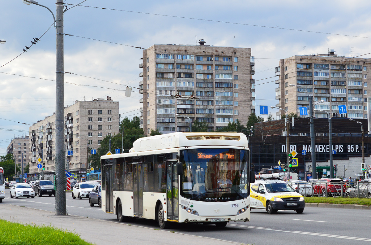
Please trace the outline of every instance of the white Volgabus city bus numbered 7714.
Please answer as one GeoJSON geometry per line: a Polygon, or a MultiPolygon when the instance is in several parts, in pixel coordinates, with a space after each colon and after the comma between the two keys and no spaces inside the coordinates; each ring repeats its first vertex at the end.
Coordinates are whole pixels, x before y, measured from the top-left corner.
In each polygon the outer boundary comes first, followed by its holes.
{"type": "Polygon", "coordinates": [[[177,132],[101,157],[102,210],[171,222],[250,221],[249,148],[243,133],[177,132]]]}

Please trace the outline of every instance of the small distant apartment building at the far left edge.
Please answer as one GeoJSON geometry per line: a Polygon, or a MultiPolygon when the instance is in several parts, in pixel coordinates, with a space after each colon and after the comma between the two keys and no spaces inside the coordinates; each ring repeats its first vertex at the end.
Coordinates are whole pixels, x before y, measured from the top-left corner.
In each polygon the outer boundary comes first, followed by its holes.
{"type": "Polygon", "coordinates": [[[29,162],[29,136],[27,135],[12,139],[6,153],[11,153],[13,155],[15,164],[18,164],[21,169],[20,173],[22,173],[22,167],[23,169],[26,168],[26,165],[29,162]]]}

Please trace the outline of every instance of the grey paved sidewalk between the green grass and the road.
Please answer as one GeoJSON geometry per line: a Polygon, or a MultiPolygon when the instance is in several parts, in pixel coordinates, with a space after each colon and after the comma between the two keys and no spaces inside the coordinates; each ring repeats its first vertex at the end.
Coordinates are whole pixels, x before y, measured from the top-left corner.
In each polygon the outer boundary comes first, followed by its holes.
{"type": "Polygon", "coordinates": [[[171,229],[160,229],[156,231],[153,228],[138,227],[135,225],[129,226],[125,223],[109,222],[73,215],[56,216],[54,212],[11,204],[0,204],[0,218],[23,224],[35,223],[36,225],[52,225],[56,228],[68,229],[69,231],[78,233],[82,239],[97,245],[174,245],[182,243],[202,245],[237,244],[218,239],[183,235],[176,232],[173,233],[170,232],[171,229]]]}

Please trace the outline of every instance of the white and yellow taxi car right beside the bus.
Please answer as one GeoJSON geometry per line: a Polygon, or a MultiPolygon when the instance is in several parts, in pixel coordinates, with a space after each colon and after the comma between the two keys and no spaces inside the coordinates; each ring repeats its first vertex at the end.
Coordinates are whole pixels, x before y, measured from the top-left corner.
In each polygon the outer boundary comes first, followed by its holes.
{"type": "Polygon", "coordinates": [[[250,207],[266,209],[272,214],[278,210],[295,210],[303,213],[304,197],[288,183],[278,178],[260,178],[250,186],[250,207]]]}

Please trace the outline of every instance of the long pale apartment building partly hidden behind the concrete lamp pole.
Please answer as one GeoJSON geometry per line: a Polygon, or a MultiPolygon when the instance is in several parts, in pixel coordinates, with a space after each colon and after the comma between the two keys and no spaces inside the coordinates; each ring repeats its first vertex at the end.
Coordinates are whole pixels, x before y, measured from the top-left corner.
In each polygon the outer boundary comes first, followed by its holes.
{"type": "MultiPolygon", "coordinates": [[[[98,149],[106,135],[119,132],[119,103],[107,99],[76,100],[65,107],[66,169],[73,173],[86,170],[87,146],[98,149]],[[73,155],[69,156],[68,151],[73,155]],[[67,165],[68,164],[68,165],[67,165]]],[[[45,173],[55,173],[55,113],[29,128],[30,173],[40,173],[39,157],[45,162],[45,173]]],[[[107,149],[108,151],[108,149],[107,149]]],[[[90,153],[90,152],[89,152],[90,153]]]]}

